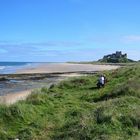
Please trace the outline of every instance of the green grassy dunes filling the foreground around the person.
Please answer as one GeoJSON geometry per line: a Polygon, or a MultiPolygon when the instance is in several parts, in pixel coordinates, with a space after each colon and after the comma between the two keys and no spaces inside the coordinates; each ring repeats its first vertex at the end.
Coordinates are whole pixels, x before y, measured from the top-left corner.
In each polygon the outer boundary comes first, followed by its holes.
{"type": "Polygon", "coordinates": [[[0,140],[139,140],[140,66],[72,78],[0,106],[0,140]]]}

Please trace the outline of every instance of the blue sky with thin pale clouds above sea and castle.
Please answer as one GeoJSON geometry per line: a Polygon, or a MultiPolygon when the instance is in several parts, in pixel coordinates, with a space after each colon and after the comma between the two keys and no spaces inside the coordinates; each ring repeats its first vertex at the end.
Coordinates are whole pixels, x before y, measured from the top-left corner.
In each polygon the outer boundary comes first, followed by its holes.
{"type": "Polygon", "coordinates": [[[140,60],[140,0],[0,0],[0,61],[140,60]]]}

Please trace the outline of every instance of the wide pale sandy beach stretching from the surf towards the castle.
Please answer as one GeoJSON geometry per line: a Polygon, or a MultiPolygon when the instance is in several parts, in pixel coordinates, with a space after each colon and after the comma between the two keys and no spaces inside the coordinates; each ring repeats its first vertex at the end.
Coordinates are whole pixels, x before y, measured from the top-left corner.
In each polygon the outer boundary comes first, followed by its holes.
{"type": "Polygon", "coordinates": [[[29,67],[18,70],[17,74],[27,73],[65,73],[65,72],[93,72],[116,69],[115,65],[92,65],[92,64],[71,64],[71,63],[44,63],[38,67],[29,67]]]}

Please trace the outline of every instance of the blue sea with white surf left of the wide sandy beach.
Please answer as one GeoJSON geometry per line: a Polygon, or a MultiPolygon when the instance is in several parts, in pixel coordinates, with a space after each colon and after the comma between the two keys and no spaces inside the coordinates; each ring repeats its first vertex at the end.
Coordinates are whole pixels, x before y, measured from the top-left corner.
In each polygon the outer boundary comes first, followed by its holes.
{"type": "Polygon", "coordinates": [[[0,62],[0,74],[12,74],[20,69],[35,67],[38,64],[35,62],[0,62]]]}

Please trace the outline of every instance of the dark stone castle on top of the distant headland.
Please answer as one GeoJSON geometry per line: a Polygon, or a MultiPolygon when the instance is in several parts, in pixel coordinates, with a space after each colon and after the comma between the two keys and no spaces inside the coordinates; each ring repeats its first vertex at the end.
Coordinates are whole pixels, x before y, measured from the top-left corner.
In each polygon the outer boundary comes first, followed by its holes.
{"type": "Polygon", "coordinates": [[[116,53],[105,55],[103,59],[116,59],[116,58],[127,58],[127,54],[122,54],[121,51],[116,51],[116,53]]]}

